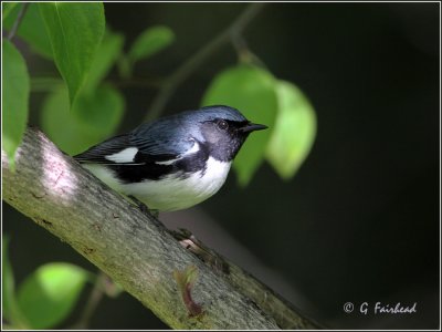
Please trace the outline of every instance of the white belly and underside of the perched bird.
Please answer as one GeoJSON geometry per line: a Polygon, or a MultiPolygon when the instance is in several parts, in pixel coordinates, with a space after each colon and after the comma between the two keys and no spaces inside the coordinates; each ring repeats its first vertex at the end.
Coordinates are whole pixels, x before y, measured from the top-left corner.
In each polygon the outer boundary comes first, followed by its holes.
{"type": "Polygon", "coordinates": [[[231,163],[218,162],[212,157],[209,157],[203,175],[202,172],[197,172],[183,179],[175,175],[158,181],[145,180],[139,184],[122,184],[113,177],[110,170],[99,165],[84,166],[113,189],[135,196],[149,209],[173,211],[208,199],[224,184],[231,163]]]}

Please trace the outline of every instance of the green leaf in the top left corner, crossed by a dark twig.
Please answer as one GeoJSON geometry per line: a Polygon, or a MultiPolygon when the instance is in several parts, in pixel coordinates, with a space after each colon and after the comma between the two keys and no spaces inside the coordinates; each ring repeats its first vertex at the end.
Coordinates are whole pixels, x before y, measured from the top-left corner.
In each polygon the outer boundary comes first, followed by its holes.
{"type": "MultiPolygon", "coordinates": [[[[21,6],[17,6],[10,15],[4,20],[3,27],[11,29],[21,6]]],[[[49,40],[46,28],[44,27],[43,19],[40,14],[38,3],[30,3],[28,10],[20,22],[17,34],[30,44],[31,49],[40,55],[52,60],[52,46],[49,40]]]]}

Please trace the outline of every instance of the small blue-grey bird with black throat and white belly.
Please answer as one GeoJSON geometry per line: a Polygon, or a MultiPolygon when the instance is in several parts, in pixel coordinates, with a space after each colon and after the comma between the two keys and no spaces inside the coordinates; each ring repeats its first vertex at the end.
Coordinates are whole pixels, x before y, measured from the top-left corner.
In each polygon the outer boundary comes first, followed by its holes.
{"type": "Polygon", "coordinates": [[[177,211],[213,196],[249,134],[265,128],[236,108],[204,106],[141,124],[74,159],[149,210],[177,211]]]}

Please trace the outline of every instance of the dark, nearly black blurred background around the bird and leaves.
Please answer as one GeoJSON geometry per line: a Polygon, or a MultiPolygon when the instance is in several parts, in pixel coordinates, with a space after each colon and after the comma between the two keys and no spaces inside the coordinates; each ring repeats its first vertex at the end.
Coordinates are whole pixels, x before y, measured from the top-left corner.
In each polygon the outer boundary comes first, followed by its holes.
{"type": "MultiPolygon", "coordinates": [[[[126,46],[152,24],[176,32],[170,49],[136,66],[136,76],[158,77],[246,6],[108,2],[105,11],[126,46]]],[[[192,230],[328,328],[440,328],[439,13],[440,3],[269,3],[244,37],[276,77],[297,84],[315,106],[311,155],[291,181],[263,164],[242,189],[232,172],[213,198],[160,219],[192,230]],[[417,302],[417,313],[373,314],[378,301],[417,302]],[[355,312],[344,312],[346,302],[355,312]],[[362,302],[371,309],[367,315],[358,312],[362,302]]],[[[180,85],[165,114],[198,106],[213,75],[235,62],[231,45],[220,49],[180,85]]],[[[119,132],[143,121],[156,90],[123,92],[119,132]]],[[[31,123],[38,124],[42,96],[31,98],[31,123]]],[[[48,261],[96,270],[3,208],[19,282],[48,261]]],[[[87,291],[82,303],[86,298],[87,291]]],[[[91,328],[167,326],[123,294],[103,301],[91,328]]]]}

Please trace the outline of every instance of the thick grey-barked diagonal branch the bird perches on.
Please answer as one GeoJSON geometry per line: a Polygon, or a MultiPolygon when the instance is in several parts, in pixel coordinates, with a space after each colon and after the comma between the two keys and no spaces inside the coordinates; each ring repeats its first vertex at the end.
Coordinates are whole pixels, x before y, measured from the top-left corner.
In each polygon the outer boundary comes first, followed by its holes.
{"type": "Polygon", "coordinates": [[[240,268],[214,271],[154,217],[98,181],[44,134],[28,128],[15,172],[2,151],[3,199],[71,245],[175,329],[315,329],[283,299],[240,268]],[[196,266],[190,318],[173,272],[196,266]]]}

